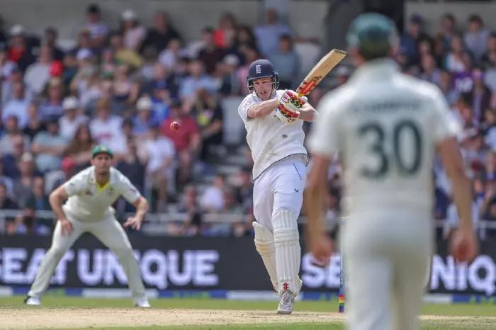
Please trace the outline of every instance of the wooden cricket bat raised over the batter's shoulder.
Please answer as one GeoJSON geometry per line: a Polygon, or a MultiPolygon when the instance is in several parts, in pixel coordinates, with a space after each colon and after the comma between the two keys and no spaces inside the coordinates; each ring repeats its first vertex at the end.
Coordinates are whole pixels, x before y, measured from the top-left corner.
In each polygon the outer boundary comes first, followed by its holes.
{"type": "Polygon", "coordinates": [[[346,52],[335,48],[322,57],[322,59],[312,67],[310,72],[308,72],[305,79],[303,79],[300,86],[298,86],[298,89],[296,89],[298,96],[305,96],[313,91],[320,81],[322,81],[332,68],[341,62],[344,57],[346,57],[346,52]]]}

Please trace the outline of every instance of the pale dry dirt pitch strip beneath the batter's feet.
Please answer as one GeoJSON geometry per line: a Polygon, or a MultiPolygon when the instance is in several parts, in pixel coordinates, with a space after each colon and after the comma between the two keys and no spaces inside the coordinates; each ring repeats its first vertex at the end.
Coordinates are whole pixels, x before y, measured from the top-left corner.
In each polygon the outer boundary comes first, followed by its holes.
{"type": "MultiPolygon", "coordinates": [[[[0,309],[1,329],[99,328],[110,326],[195,326],[211,324],[284,324],[344,322],[344,315],[323,312],[293,312],[277,315],[266,310],[213,309],[121,309],[121,308],[43,308],[0,309]]],[[[427,321],[473,317],[424,316],[427,321]]],[[[491,318],[493,319],[493,318],[491,318]]],[[[494,318],[496,322],[496,317],[494,318]]]]}

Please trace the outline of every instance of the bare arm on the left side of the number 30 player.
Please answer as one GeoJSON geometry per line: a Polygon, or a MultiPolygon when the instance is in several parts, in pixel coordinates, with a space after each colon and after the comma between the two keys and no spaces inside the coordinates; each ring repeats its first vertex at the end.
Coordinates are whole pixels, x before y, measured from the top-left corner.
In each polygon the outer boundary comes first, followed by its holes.
{"type": "Polygon", "coordinates": [[[323,219],[323,205],[327,188],[327,170],[331,161],[320,154],[312,155],[312,169],[308,174],[305,189],[305,212],[307,215],[307,241],[310,251],[321,266],[329,263],[332,253],[332,241],[327,237],[323,219]]]}

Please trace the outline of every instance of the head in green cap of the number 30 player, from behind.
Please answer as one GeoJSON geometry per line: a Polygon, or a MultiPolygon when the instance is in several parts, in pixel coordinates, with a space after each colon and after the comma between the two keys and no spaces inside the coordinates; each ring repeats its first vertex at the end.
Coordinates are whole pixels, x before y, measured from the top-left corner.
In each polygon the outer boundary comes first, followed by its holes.
{"type": "Polygon", "coordinates": [[[363,13],[351,22],[346,42],[359,49],[364,59],[388,56],[398,45],[395,23],[380,13],[363,13]]]}

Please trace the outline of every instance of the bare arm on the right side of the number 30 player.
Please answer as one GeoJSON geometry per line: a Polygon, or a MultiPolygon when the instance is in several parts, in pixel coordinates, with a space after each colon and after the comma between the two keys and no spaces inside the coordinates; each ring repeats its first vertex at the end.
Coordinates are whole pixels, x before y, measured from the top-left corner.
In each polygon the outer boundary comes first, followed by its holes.
{"type": "Polygon", "coordinates": [[[463,157],[455,137],[437,144],[446,174],[453,186],[453,200],[458,210],[460,224],[451,240],[451,254],[457,261],[472,261],[478,246],[473,232],[472,185],[465,173],[463,157]]]}

